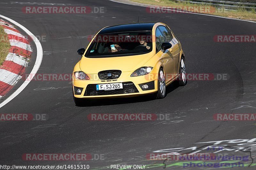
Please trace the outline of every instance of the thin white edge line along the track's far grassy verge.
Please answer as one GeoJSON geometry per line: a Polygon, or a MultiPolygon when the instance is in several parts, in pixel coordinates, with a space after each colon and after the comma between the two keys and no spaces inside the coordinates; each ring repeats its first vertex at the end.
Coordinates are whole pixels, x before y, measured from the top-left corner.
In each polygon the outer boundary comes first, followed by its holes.
{"type": "MultiPolygon", "coordinates": [[[[118,1],[115,1],[115,0],[109,0],[109,1],[120,3],[120,4],[127,4],[127,5],[134,5],[134,6],[142,6],[142,7],[151,7],[151,8],[155,8],[155,9],[161,9],[161,8],[157,8],[157,7],[151,6],[149,4],[129,4],[129,3],[125,3],[125,2],[118,2],[118,1]]],[[[205,15],[205,16],[210,16],[210,17],[226,18],[226,19],[233,19],[233,20],[238,20],[238,21],[246,21],[246,22],[256,23],[255,21],[236,19],[236,18],[227,18],[227,17],[221,17],[221,16],[209,15],[209,14],[192,13],[192,12],[177,11],[177,10],[171,10],[171,9],[164,9],[164,10],[175,11],[175,12],[182,12],[182,13],[188,13],[188,14],[195,14],[195,15],[205,15]]]]}

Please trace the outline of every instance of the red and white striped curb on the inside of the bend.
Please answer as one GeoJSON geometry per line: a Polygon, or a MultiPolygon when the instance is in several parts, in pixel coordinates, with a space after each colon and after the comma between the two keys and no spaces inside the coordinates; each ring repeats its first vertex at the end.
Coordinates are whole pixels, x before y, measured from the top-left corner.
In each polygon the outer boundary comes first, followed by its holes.
{"type": "Polygon", "coordinates": [[[32,54],[32,49],[28,39],[10,23],[0,19],[0,26],[8,34],[11,44],[9,54],[0,66],[0,98],[2,98],[22,78],[32,54]]]}

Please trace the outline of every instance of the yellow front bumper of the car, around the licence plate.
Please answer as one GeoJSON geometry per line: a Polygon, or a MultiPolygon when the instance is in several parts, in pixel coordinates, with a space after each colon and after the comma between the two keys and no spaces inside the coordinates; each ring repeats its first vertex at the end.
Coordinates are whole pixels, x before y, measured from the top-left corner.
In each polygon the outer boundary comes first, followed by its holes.
{"type": "Polygon", "coordinates": [[[100,80],[97,74],[87,74],[90,80],[77,80],[73,74],[73,94],[76,98],[114,98],[114,97],[133,97],[139,95],[145,95],[154,93],[157,91],[157,78],[154,76],[138,76],[130,77],[131,71],[122,72],[121,76],[117,79],[112,80],[100,80]],[[97,84],[108,84],[108,83],[123,83],[123,89],[116,90],[100,90],[96,91],[97,84]],[[147,83],[148,89],[142,90],[142,85],[147,83]],[[81,88],[81,94],[74,93],[75,88],[81,88]],[[83,88],[83,89],[82,89],[83,88]]]}

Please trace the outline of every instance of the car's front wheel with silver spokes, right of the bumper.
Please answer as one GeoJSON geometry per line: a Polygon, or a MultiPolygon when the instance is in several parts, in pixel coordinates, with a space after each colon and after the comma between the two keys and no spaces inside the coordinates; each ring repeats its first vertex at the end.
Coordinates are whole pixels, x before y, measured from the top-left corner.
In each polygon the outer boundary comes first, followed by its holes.
{"type": "Polygon", "coordinates": [[[163,99],[166,96],[166,85],[165,85],[165,76],[164,70],[161,68],[158,72],[158,90],[156,93],[156,99],[163,99]]]}

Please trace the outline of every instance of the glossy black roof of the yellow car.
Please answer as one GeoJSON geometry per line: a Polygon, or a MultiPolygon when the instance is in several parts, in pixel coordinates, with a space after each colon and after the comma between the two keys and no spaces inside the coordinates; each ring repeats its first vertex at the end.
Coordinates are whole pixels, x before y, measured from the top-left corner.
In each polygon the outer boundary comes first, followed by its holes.
{"type": "Polygon", "coordinates": [[[156,22],[121,24],[103,28],[98,34],[121,33],[131,31],[152,31],[156,22]]]}

